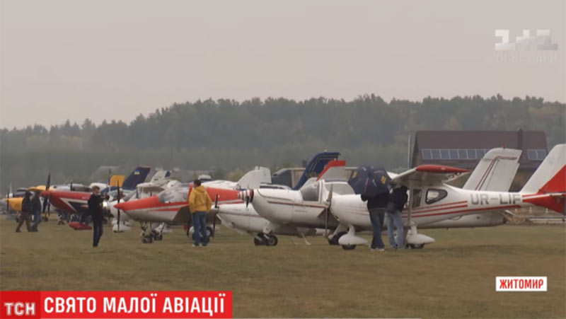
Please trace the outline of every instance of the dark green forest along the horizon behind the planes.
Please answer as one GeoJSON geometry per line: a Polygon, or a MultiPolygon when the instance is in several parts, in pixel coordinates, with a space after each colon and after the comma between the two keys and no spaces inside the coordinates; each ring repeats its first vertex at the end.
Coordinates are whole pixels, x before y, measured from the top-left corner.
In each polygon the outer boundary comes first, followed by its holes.
{"type": "Polygon", "coordinates": [[[546,133],[549,149],[566,140],[566,105],[501,95],[424,98],[376,95],[354,100],[285,98],[198,100],[138,115],[132,122],[69,121],[0,131],[0,185],[67,179],[90,182],[98,166],[212,169],[216,178],[261,165],[298,166],[319,151],[340,151],[349,165],[407,166],[407,142],[422,129],[516,130],[546,133]]]}

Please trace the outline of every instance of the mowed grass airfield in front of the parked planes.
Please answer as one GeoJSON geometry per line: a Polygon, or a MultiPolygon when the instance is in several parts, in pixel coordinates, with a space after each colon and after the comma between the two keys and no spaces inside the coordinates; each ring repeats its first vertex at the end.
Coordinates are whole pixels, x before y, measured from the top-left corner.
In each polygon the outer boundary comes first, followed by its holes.
{"type": "Polygon", "coordinates": [[[345,251],[279,236],[255,247],[226,228],[192,248],[179,227],[142,244],[138,231],[42,223],[14,233],[0,221],[1,289],[231,290],[236,317],[565,318],[566,228],[423,230],[423,250],[345,251]],[[495,292],[496,276],[548,276],[548,292],[495,292]]]}

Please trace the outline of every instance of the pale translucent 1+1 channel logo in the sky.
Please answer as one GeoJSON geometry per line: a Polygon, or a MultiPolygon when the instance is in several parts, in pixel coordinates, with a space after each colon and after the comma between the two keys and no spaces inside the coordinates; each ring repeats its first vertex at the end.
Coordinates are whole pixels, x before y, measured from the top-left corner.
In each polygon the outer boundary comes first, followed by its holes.
{"type": "Polygon", "coordinates": [[[509,29],[496,29],[495,36],[500,40],[495,42],[495,51],[558,50],[558,44],[552,42],[548,29],[538,29],[534,35],[531,35],[531,30],[524,29],[523,34],[517,35],[514,42],[509,42],[509,29]]]}

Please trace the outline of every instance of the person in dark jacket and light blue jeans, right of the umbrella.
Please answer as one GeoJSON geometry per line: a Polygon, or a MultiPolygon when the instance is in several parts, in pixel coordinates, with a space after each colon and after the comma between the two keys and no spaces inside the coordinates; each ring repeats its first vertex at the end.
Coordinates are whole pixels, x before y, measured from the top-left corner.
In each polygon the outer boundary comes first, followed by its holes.
{"type": "Polygon", "coordinates": [[[393,249],[405,248],[405,238],[403,238],[403,207],[408,199],[407,187],[400,186],[393,188],[389,203],[386,207],[387,214],[387,235],[389,245],[393,249]],[[397,238],[393,236],[393,227],[396,228],[397,238]]]}

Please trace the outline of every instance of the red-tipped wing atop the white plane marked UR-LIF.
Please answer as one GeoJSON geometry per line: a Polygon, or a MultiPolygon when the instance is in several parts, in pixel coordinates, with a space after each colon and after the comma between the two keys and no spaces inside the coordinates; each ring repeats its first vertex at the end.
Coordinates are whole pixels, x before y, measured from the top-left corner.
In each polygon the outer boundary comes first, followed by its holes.
{"type": "Polygon", "coordinates": [[[392,184],[405,185],[439,185],[451,180],[461,178],[470,173],[470,170],[441,165],[421,165],[395,176],[392,184]]]}

